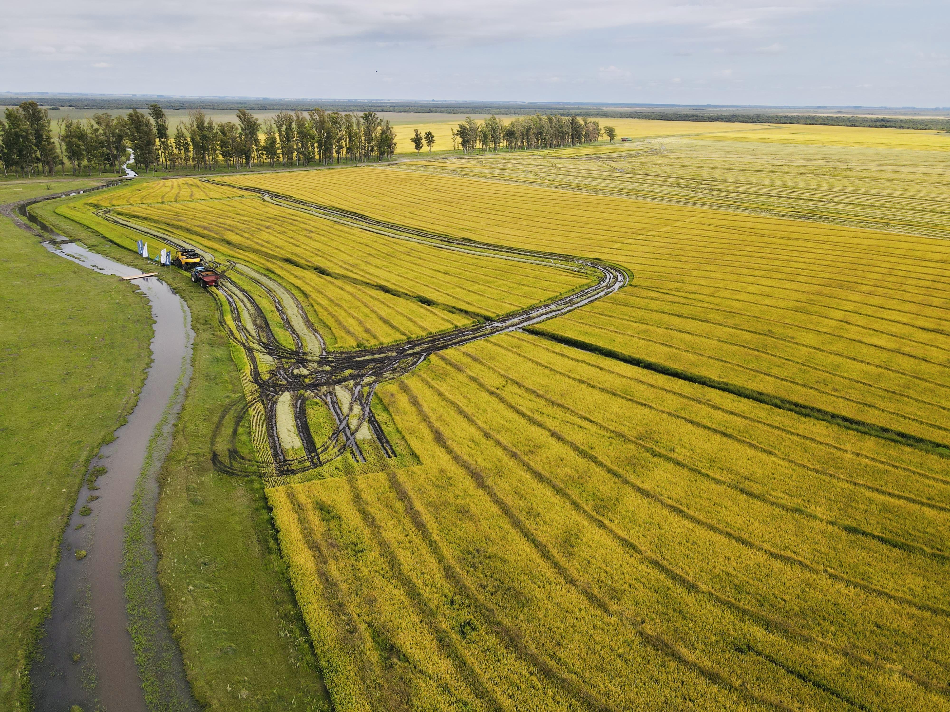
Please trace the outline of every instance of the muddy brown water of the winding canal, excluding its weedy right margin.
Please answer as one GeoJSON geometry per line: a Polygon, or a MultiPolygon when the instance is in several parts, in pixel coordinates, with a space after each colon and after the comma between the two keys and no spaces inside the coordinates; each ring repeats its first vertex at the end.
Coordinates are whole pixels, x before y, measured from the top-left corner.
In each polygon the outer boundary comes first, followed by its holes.
{"type": "MultiPolygon", "coordinates": [[[[55,248],[45,244],[50,252],[104,274],[151,271],[128,267],[77,243],[55,248]]],[[[190,372],[191,328],[187,306],[167,284],[157,277],[135,284],[148,297],[155,320],[153,363],[128,422],[92,460],[90,467],[107,470],[96,481],[99,489],[90,491],[89,483],[84,485],[66,527],[43,654],[30,675],[38,712],[66,712],[73,704],[105,712],[147,710],[128,632],[121,575],[123,527],[149,440],[182,374],[190,372]],[[89,496],[98,498],[87,502],[89,496]],[[84,506],[92,510],[91,515],[80,514],[84,506]],[[75,555],[80,550],[87,552],[83,560],[75,555]]],[[[179,686],[187,690],[180,660],[174,667],[181,676],[179,686]]]]}

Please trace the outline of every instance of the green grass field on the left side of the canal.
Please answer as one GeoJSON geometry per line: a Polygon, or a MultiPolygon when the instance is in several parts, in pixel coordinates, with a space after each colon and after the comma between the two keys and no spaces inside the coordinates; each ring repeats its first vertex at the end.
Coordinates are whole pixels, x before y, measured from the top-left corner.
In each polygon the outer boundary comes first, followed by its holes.
{"type": "Polygon", "coordinates": [[[89,459],[136,402],[152,328],[131,285],[48,253],[6,217],[0,251],[0,707],[20,709],[63,528],[89,459]]]}

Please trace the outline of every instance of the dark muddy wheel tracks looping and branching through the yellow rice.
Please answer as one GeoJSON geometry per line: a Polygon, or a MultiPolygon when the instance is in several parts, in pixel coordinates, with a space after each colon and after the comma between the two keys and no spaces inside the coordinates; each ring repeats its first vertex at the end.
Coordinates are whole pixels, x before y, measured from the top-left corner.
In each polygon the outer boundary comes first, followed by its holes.
{"type": "MultiPolygon", "coordinates": [[[[223,181],[212,182],[223,183],[223,181]]],[[[475,240],[428,233],[269,191],[244,186],[231,187],[256,193],[288,210],[304,211],[309,215],[316,215],[392,239],[422,242],[431,247],[452,252],[477,254],[483,257],[542,265],[550,269],[580,272],[588,275],[592,282],[555,300],[465,328],[409,339],[385,347],[355,351],[328,351],[323,337],[314,328],[306,310],[292,291],[279,285],[272,278],[258,274],[249,265],[231,263],[225,272],[237,270],[234,274],[237,277],[239,273],[239,281],[253,282],[257,290],[266,295],[266,299],[273,303],[280,318],[280,328],[290,335],[294,343],[293,348],[279,343],[274,332],[274,327],[277,325],[272,325],[268,321],[261,308],[262,305],[257,303],[248,290],[237,283],[237,279],[228,278],[226,275],[221,279],[216,290],[220,296],[218,299],[220,322],[232,341],[244,351],[253,384],[253,393],[249,394],[249,402],[239,406],[241,412],[231,413],[231,420],[236,423],[247,410],[260,407],[266,421],[264,430],[267,433],[270,445],[268,449],[271,455],[271,461],[255,467],[237,456],[236,425],[232,427],[230,437],[224,432],[219,432],[219,440],[214,446],[216,465],[236,475],[258,471],[276,483],[280,478],[312,470],[348,452],[356,461],[364,461],[364,453],[355,437],[364,424],[368,426],[371,437],[379,442],[386,456],[394,457],[396,453],[370,408],[378,384],[406,375],[432,353],[464,346],[479,339],[529,327],[561,316],[601,299],[626,286],[629,282],[627,272],[598,260],[491,245],[475,240]],[[308,344],[315,344],[318,347],[308,347],[308,344]],[[349,403],[345,407],[341,406],[340,399],[337,397],[337,388],[340,387],[349,397],[349,403]],[[295,456],[286,453],[276,426],[277,401],[282,394],[288,392],[292,394],[293,418],[303,444],[302,455],[295,456]],[[308,400],[319,400],[324,403],[336,423],[330,437],[319,444],[314,442],[310,428],[307,426],[306,402],[308,400]]],[[[142,234],[159,237],[166,244],[179,248],[192,247],[181,245],[179,241],[167,235],[111,215],[108,210],[102,211],[100,215],[142,234]]],[[[224,429],[225,420],[227,419],[222,416],[219,427],[221,431],[224,429]]]]}

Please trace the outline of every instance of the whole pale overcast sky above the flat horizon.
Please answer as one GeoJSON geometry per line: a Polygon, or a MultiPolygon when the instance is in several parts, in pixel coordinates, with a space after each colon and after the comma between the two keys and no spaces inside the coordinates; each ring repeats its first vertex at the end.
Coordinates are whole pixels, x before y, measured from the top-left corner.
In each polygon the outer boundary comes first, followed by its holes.
{"type": "Polygon", "coordinates": [[[950,1],[2,0],[0,91],[950,106],[950,1]]]}

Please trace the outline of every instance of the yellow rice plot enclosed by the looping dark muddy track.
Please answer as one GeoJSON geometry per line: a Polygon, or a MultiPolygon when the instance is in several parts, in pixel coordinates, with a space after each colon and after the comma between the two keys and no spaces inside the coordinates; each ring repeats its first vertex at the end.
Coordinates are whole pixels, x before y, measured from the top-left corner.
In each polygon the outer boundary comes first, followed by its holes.
{"type": "Polygon", "coordinates": [[[336,347],[456,328],[554,298],[584,281],[570,272],[371,234],[195,179],[153,181],[95,199],[93,205],[196,244],[222,263],[236,259],[286,280],[329,328],[326,336],[336,347]]]}

